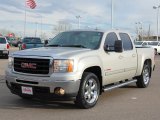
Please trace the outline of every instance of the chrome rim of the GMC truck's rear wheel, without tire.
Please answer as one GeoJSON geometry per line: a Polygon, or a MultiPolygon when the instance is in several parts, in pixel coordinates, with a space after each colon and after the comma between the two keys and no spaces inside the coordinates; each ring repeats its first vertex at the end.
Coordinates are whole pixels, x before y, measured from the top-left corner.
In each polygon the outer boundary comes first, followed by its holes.
{"type": "Polygon", "coordinates": [[[143,70],[143,81],[144,81],[144,84],[148,84],[149,80],[150,80],[150,70],[146,66],[145,69],[143,70]]]}

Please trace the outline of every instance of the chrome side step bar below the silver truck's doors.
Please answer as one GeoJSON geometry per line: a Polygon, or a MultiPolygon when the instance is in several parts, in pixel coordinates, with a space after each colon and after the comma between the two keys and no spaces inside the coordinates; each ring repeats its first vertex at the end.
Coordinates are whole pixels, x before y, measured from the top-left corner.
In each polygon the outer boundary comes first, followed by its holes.
{"type": "Polygon", "coordinates": [[[137,79],[133,79],[133,80],[129,80],[129,81],[126,81],[126,82],[123,82],[123,83],[119,83],[119,84],[116,84],[116,85],[111,85],[111,86],[106,86],[103,88],[103,91],[109,91],[109,90],[112,90],[112,89],[115,89],[115,88],[119,88],[119,87],[123,87],[123,86],[126,86],[128,84],[131,84],[131,83],[135,83],[137,82],[137,79]]]}

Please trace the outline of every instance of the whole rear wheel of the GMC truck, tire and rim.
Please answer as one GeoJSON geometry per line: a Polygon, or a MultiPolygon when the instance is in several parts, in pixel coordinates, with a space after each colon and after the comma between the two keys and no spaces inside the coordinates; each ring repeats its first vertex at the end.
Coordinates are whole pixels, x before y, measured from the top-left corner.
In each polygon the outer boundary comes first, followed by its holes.
{"type": "Polygon", "coordinates": [[[143,70],[140,76],[137,77],[137,87],[146,88],[150,83],[151,78],[151,65],[149,62],[145,62],[143,70]]]}

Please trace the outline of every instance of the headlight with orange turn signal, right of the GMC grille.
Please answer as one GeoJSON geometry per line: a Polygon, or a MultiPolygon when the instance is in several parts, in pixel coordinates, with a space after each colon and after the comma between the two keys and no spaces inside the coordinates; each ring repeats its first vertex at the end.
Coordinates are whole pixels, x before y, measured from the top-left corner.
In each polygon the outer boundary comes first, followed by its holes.
{"type": "Polygon", "coordinates": [[[73,72],[73,60],[54,60],[53,61],[53,72],[73,72]]]}

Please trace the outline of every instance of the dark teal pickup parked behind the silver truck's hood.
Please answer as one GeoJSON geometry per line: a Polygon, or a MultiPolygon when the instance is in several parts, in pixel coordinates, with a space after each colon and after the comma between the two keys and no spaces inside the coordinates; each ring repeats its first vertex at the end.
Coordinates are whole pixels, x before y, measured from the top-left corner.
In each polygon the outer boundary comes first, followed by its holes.
{"type": "Polygon", "coordinates": [[[19,50],[38,48],[38,47],[43,47],[43,46],[44,46],[44,43],[42,43],[40,38],[38,38],[38,37],[25,37],[22,39],[22,42],[19,45],[19,50]]]}

